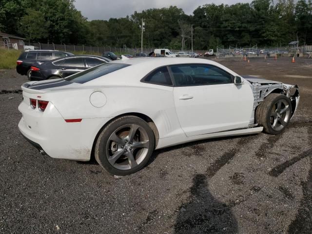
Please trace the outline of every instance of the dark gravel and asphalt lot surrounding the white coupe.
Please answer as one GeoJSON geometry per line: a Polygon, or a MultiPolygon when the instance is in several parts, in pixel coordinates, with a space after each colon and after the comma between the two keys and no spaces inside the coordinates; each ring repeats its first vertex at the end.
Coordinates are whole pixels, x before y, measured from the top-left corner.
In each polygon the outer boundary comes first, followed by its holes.
{"type": "Polygon", "coordinates": [[[312,59],[218,61],[298,84],[290,127],[158,150],[124,177],[41,156],[18,130],[27,78],[0,70],[0,233],[312,233],[312,59]]]}

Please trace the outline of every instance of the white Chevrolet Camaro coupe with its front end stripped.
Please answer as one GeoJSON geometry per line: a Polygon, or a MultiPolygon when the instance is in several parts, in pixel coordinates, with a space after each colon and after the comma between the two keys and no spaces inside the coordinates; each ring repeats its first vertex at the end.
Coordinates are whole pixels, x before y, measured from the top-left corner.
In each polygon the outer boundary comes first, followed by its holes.
{"type": "Polygon", "coordinates": [[[160,149],[199,139],[281,133],[296,85],[243,78],[207,59],[120,59],[22,85],[19,129],[41,154],[137,172],[160,149]]]}

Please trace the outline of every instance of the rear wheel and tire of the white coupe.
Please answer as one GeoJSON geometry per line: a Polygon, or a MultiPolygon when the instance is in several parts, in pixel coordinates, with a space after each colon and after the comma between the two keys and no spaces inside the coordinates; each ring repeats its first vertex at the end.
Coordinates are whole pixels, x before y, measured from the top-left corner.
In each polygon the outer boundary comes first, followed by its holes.
{"type": "Polygon", "coordinates": [[[148,123],[136,116],[124,116],[101,131],[95,158],[109,173],[126,176],[144,167],[154,148],[155,136],[148,123]]]}

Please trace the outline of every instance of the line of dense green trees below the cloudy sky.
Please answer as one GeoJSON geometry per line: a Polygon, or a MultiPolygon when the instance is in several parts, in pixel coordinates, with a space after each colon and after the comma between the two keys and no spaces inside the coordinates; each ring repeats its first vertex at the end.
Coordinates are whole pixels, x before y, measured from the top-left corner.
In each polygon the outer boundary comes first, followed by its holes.
{"type": "Polygon", "coordinates": [[[312,0],[254,0],[198,6],[186,15],[176,6],[134,12],[125,18],[88,21],[74,0],[0,0],[0,31],[27,41],[195,49],[218,46],[312,44],[312,0]]]}

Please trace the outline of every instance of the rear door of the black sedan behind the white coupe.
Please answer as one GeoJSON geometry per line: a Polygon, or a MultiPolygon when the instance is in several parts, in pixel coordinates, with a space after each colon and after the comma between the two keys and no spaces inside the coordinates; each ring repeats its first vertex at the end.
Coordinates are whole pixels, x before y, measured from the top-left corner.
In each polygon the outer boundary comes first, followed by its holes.
{"type": "Polygon", "coordinates": [[[59,74],[62,78],[68,77],[75,73],[81,72],[86,69],[83,57],[72,57],[68,59],[64,59],[60,67],[61,71],[59,74]]]}

